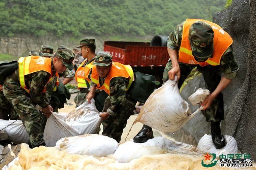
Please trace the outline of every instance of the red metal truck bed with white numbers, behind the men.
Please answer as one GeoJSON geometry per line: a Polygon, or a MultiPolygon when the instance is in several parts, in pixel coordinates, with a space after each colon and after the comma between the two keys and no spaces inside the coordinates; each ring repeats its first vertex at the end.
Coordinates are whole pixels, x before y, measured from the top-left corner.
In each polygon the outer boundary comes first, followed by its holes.
{"type": "Polygon", "coordinates": [[[132,67],[165,66],[169,58],[166,46],[143,42],[105,41],[104,51],[112,55],[113,61],[132,67]]]}

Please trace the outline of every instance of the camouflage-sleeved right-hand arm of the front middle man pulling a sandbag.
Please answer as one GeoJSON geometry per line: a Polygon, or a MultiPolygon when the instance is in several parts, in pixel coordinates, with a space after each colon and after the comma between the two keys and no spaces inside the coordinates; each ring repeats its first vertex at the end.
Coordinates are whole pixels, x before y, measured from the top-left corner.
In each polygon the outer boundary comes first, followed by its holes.
{"type": "Polygon", "coordinates": [[[110,80],[110,102],[111,106],[107,109],[107,113],[113,117],[118,116],[118,113],[126,105],[126,81],[123,77],[115,77],[110,80]]]}

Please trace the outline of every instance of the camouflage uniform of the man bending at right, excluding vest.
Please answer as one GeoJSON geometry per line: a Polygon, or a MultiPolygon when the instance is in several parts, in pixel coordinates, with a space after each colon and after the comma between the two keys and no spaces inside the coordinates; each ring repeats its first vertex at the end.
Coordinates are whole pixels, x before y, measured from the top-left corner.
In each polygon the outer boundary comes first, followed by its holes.
{"type": "MultiPolygon", "coordinates": [[[[182,31],[183,31],[184,22],[178,24],[176,29],[170,33],[167,47],[172,50],[178,50],[181,46],[182,40],[182,31]]],[[[192,49],[193,50],[193,49],[192,49]]],[[[186,63],[179,62],[180,70],[181,70],[181,77],[178,82],[178,87],[180,88],[182,83],[185,81],[191,70],[195,67],[195,65],[190,65],[186,63]]],[[[232,53],[232,46],[230,46],[222,55],[220,60],[220,65],[212,66],[200,66],[199,64],[196,65],[198,71],[200,71],[203,75],[205,80],[205,88],[212,93],[216,87],[218,86],[221,73],[224,73],[224,76],[228,79],[233,79],[236,77],[238,66],[235,60],[235,57],[232,53]]],[[[166,82],[168,77],[168,71],[172,68],[171,60],[166,64],[166,67],[163,72],[163,81],[166,82]]],[[[223,110],[223,95],[220,93],[214,100],[212,105],[207,108],[205,111],[202,110],[203,115],[206,117],[207,122],[217,122],[224,119],[224,110],[223,110]]]]}

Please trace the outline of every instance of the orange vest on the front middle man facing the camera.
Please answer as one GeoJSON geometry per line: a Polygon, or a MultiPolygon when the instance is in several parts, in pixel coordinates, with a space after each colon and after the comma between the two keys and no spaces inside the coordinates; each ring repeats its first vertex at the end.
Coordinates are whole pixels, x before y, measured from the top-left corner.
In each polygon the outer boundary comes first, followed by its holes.
{"type": "MultiPolygon", "coordinates": [[[[89,73],[90,73],[90,70],[85,70],[85,78],[88,81],[90,80],[88,78],[89,73]]],[[[129,78],[129,84],[126,87],[126,91],[127,91],[130,88],[132,81],[133,81],[132,67],[130,65],[123,65],[118,62],[112,62],[111,69],[101,87],[99,84],[99,74],[96,71],[96,65],[94,65],[92,67],[91,81],[97,85],[97,87],[96,87],[97,89],[104,90],[108,95],[110,95],[109,83],[110,83],[110,80],[114,77],[129,78]]]]}

